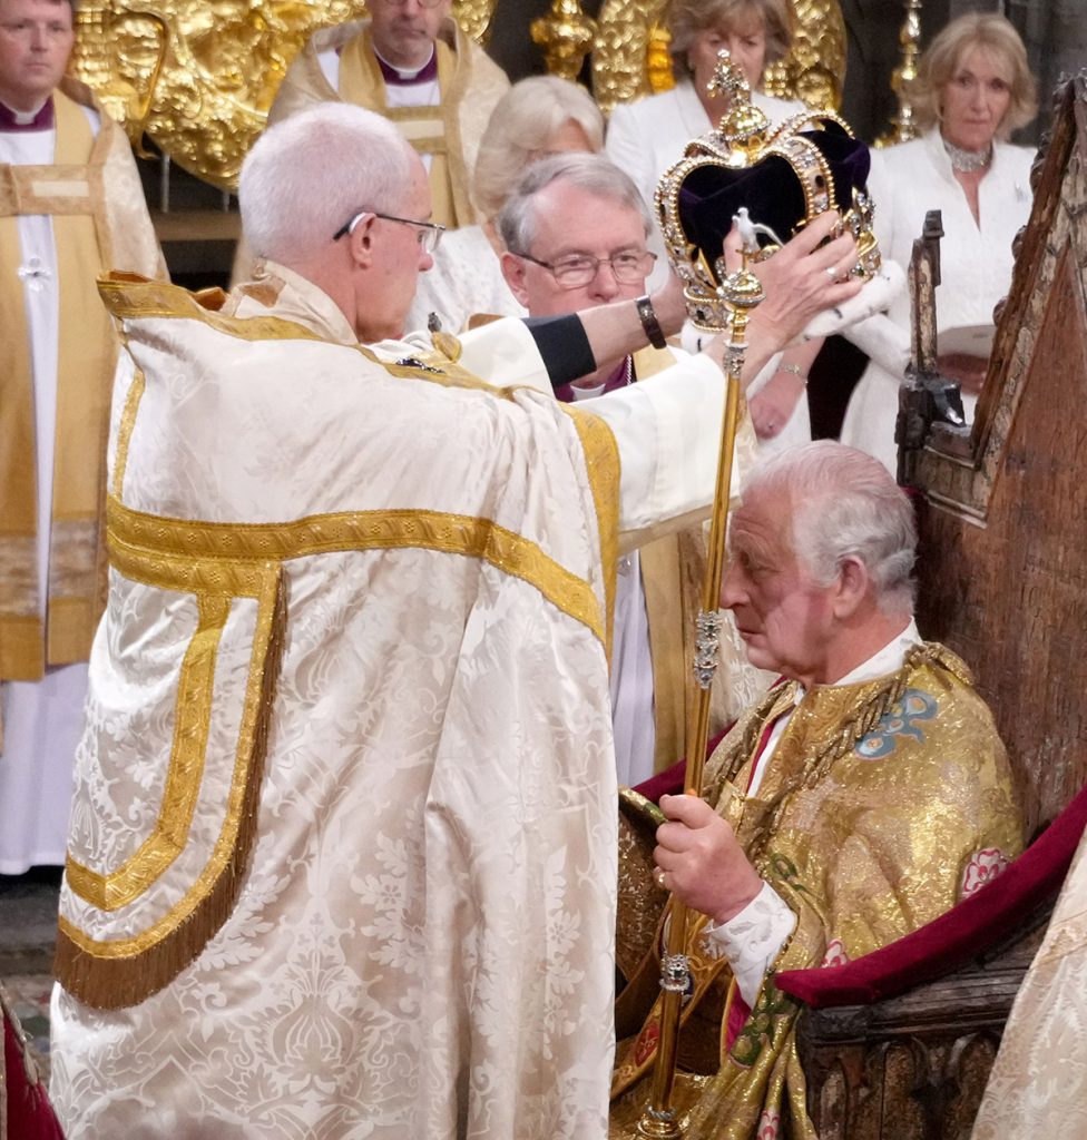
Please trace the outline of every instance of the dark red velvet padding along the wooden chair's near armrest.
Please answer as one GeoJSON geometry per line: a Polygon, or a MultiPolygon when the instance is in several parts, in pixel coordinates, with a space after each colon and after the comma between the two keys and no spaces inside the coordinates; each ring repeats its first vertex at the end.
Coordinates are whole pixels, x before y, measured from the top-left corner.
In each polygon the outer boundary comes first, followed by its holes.
{"type": "Polygon", "coordinates": [[[1057,893],[1087,825],[1087,788],[1003,874],[947,914],[845,966],[786,970],[778,988],[809,1005],[855,1005],[893,997],[949,974],[1012,934],[1057,893]]]}

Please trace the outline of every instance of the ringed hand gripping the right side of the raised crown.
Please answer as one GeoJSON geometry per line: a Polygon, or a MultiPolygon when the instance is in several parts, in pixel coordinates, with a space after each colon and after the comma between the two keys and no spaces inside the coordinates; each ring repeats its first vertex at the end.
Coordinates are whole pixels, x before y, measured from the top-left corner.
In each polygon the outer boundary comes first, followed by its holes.
{"type": "MultiPolygon", "coordinates": [[[[787,344],[822,312],[855,296],[863,285],[847,276],[857,262],[857,243],[844,234],[820,246],[839,221],[828,210],[809,222],[772,256],[753,266],[766,298],[752,316],[752,328],[772,332],[787,344]]],[[[728,241],[727,243],[728,244],[728,241]]]]}

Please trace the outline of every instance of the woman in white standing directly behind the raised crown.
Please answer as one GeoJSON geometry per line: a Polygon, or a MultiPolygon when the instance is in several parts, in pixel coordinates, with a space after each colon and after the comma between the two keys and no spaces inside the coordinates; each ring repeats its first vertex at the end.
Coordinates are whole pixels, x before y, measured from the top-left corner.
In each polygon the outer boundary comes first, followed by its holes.
{"type": "MultiPolygon", "coordinates": [[[[808,109],[803,103],[777,99],[759,90],[764,68],[777,63],[793,42],[788,0],[675,0],[668,28],[676,85],[616,107],[605,144],[608,157],[634,179],[655,217],[654,194],[660,176],[682,157],[691,139],[707,133],[728,111],[727,98],[711,97],[706,90],[722,48],[744,70],[752,103],[772,123],[808,109]]],[[[651,235],[649,249],[657,254],[649,278],[656,285],[667,271],[659,229],[651,235]]],[[[752,422],[764,442],[773,439],[777,446],[786,446],[811,438],[808,400],[803,397],[819,343],[789,350],[752,384],[752,422]]]]}

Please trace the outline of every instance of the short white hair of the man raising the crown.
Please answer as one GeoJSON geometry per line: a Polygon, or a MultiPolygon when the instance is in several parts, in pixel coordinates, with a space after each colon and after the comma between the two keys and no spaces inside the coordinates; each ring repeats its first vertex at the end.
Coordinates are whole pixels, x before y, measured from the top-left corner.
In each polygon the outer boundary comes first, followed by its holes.
{"type": "Polygon", "coordinates": [[[411,147],[381,115],[342,103],[302,111],[269,127],[242,164],[245,239],[258,256],[305,261],[354,213],[396,213],[411,177],[411,147]]]}

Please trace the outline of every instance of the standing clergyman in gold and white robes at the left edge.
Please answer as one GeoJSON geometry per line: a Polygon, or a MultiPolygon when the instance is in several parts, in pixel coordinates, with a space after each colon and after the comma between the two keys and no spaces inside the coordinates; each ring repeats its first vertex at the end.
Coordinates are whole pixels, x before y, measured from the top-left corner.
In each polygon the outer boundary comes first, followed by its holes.
{"type": "Polygon", "coordinates": [[[60,865],[116,339],[95,278],[164,272],[128,139],[62,79],[67,0],[0,0],[0,874],[60,865]]]}

